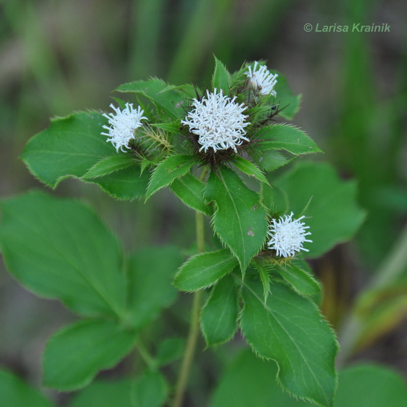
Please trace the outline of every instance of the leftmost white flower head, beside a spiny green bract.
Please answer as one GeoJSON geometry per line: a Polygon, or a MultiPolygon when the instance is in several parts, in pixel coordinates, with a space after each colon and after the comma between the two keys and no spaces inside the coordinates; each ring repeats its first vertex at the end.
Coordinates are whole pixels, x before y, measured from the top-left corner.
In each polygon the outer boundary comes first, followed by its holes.
{"type": "Polygon", "coordinates": [[[144,110],[141,110],[140,106],[137,109],[133,108],[132,103],[126,103],[126,107],[120,110],[120,107],[114,107],[110,104],[110,107],[114,110],[114,113],[103,113],[104,117],[109,119],[109,125],[103,126],[107,133],[100,133],[109,138],[106,141],[111,141],[116,151],[123,150],[123,148],[129,148],[129,141],[134,138],[134,131],[142,126],[141,120],[147,119],[142,114],[144,110]]]}

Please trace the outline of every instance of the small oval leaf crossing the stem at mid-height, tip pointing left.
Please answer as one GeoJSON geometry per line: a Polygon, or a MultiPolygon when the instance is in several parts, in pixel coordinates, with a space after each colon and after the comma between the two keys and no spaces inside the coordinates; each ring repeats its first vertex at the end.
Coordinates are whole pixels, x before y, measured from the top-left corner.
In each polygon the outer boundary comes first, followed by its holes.
{"type": "Polygon", "coordinates": [[[182,265],[175,276],[174,285],[188,292],[207,288],[237,265],[238,260],[228,249],[196,254],[182,265]]]}

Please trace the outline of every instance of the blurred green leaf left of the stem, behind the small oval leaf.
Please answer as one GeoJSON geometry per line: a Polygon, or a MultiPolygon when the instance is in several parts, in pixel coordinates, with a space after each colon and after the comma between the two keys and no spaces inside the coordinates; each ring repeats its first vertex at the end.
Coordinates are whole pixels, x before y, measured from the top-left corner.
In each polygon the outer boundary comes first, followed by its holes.
{"type": "Polygon", "coordinates": [[[176,300],[177,290],[171,282],[181,262],[180,251],[173,247],[150,247],[129,258],[129,325],[142,328],[176,300]]]}

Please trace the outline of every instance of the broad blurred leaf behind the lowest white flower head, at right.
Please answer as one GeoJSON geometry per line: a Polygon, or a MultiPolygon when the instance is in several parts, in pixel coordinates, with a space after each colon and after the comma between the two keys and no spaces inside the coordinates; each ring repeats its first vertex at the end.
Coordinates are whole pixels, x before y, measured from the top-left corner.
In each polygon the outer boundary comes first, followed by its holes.
{"type": "Polygon", "coordinates": [[[276,180],[296,217],[306,215],[311,240],[306,257],[318,257],[350,239],[365,218],[355,181],[342,181],[327,163],[301,162],[276,180]]]}

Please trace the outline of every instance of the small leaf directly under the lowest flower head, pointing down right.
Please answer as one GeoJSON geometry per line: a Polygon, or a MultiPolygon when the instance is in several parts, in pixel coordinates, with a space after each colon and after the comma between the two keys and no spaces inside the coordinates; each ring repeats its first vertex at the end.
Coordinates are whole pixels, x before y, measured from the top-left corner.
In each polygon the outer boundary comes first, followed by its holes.
{"type": "Polygon", "coordinates": [[[314,297],[321,293],[321,284],[312,276],[312,271],[304,260],[293,259],[290,264],[281,266],[276,264],[274,270],[301,296],[314,297]]]}

